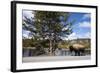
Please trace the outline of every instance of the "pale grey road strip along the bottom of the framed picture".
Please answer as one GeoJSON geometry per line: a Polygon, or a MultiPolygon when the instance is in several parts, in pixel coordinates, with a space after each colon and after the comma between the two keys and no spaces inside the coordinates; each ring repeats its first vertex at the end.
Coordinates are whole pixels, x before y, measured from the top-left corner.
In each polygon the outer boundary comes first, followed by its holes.
{"type": "Polygon", "coordinates": [[[23,57],[22,62],[47,62],[47,61],[69,61],[69,60],[88,60],[91,59],[90,55],[87,56],[45,56],[45,57],[23,57]]]}

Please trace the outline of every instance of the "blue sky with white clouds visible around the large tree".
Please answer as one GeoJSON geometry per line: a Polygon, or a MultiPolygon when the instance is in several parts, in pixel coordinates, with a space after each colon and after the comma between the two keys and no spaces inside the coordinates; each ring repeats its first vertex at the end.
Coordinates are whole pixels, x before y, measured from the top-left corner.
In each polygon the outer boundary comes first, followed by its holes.
{"type": "MultiPolygon", "coordinates": [[[[34,17],[32,11],[23,10],[23,16],[34,17]]],[[[24,17],[23,17],[24,18],[24,17]]],[[[91,37],[91,14],[71,12],[69,21],[75,20],[73,33],[64,39],[90,38],[91,37]]],[[[23,36],[28,37],[28,31],[23,31],[23,36]]]]}

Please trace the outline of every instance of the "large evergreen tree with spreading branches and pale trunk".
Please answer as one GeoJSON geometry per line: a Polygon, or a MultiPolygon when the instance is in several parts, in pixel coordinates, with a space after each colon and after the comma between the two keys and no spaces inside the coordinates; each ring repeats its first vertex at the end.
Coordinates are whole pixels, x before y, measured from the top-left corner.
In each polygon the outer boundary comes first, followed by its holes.
{"type": "Polygon", "coordinates": [[[69,21],[71,13],[33,11],[33,18],[23,19],[23,29],[30,31],[30,35],[43,43],[49,40],[49,55],[53,55],[58,42],[72,33],[73,21],[69,21]]]}

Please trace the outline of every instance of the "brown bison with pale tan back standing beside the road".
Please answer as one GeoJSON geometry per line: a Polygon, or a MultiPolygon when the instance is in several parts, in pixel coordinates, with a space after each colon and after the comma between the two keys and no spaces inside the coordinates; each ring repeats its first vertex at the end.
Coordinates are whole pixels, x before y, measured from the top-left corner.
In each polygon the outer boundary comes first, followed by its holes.
{"type": "Polygon", "coordinates": [[[85,53],[85,46],[82,44],[73,44],[69,46],[69,51],[71,54],[74,52],[75,56],[81,56],[85,53]]]}

